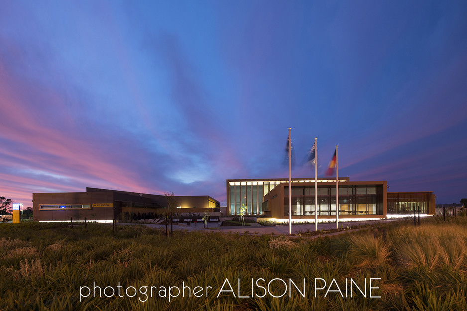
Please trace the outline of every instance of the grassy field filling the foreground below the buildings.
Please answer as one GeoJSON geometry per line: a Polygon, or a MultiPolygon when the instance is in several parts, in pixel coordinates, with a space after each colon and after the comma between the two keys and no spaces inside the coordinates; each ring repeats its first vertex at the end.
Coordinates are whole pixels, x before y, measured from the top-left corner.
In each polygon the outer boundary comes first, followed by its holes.
{"type": "Polygon", "coordinates": [[[466,243],[467,217],[317,239],[2,224],[0,310],[467,310],[466,243]]]}

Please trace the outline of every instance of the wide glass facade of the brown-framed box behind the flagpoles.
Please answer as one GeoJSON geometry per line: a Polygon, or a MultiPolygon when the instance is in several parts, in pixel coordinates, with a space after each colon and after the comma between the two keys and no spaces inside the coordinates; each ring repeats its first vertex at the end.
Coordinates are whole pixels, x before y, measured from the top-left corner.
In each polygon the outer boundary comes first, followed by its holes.
{"type": "MultiPolygon", "coordinates": [[[[284,186],[284,216],[289,215],[289,187],[284,186]]],[[[339,215],[382,215],[382,185],[339,186],[339,215]]],[[[336,215],[336,186],[318,186],[318,215],[336,215]]],[[[292,215],[315,215],[315,187],[292,186],[292,215]]]]}

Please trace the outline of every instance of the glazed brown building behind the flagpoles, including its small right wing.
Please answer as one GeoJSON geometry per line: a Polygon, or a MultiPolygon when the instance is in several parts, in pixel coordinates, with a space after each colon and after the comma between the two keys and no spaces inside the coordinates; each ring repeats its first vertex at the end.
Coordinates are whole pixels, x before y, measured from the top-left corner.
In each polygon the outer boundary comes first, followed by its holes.
{"type": "MultiPolygon", "coordinates": [[[[318,178],[317,212],[320,219],[336,217],[336,179],[318,178]]],[[[227,206],[230,215],[240,214],[247,207],[247,215],[264,215],[275,219],[289,217],[288,179],[229,179],[227,206]]],[[[386,181],[350,181],[339,179],[339,217],[374,219],[413,214],[435,213],[433,192],[387,192],[386,181]]],[[[315,180],[292,179],[292,218],[315,217],[315,180]]]]}

